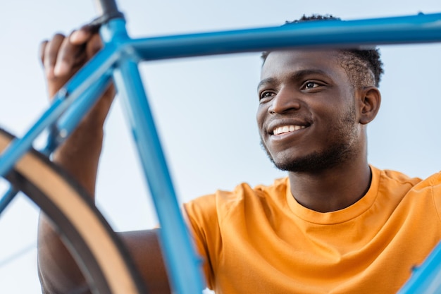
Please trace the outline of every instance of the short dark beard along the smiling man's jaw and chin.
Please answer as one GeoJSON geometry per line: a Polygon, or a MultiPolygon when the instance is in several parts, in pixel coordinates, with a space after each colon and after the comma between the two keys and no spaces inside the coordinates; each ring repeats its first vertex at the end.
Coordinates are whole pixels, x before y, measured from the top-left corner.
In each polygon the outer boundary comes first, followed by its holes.
{"type": "Polygon", "coordinates": [[[304,157],[275,161],[261,137],[261,147],[277,169],[294,173],[318,173],[342,164],[358,154],[354,148],[357,137],[355,105],[350,107],[346,114],[340,117],[333,142],[321,151],[312,152],[304,157]]]}

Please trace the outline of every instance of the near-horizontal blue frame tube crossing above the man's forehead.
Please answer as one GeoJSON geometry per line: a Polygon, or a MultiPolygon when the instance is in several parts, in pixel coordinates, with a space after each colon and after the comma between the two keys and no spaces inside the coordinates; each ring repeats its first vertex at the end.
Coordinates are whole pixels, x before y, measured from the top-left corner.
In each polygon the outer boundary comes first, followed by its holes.
{"type": "Polygon", "coordinates": [[[274,49],[358,48],[441,42],[441,13],[368,20],[321,20],[190,35],[133,39],[146,61],[274,49]]]}

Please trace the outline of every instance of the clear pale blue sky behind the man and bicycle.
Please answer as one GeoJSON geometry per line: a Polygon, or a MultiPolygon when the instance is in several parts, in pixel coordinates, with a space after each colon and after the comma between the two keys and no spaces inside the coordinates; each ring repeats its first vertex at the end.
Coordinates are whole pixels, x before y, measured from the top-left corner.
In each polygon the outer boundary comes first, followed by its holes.
{"type": "MultiPolygon", "coordinates": [[[[354,19],[441,12],[439,0],[120,0],[118,4],[132,37],[273,26],[311,13],[354,19]]],[[[1,127],[20,135],[47,106],[39,42],[54,32],[69,33],[94,15],[89,0],[0,2],[1,127]]],[[[369,161],[382,169],[426,177],[441,166],[441,44],[380,50],[385,65],[380,85],[383,102],[368,127],[369,161]]],[[[241,182],[269,184],[285,176],[273,168],[259,145],[255,112],[260,66],[259,54],[142,66],[181,202],[241,182]]],[[[151,228],[156,219],[124,123],[117,101],[106,123],[98,205],[116,230],[151,228]]],[[[37,214],[25,197],[19,197],[2,216],[1,293],[40,293],[35,271],[37,214]],[[6,262],[15,253],[18,257],[6,262]]]]}

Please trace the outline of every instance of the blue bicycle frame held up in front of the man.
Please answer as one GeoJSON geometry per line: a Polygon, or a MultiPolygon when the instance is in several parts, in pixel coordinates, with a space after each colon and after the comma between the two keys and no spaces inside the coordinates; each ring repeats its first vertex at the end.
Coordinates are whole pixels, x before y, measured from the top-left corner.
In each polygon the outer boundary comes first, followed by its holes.
{"type": "MultiPolygon", "coordinates": [[[[37,122],[1,154],[0,173],[5,175],[46,129],[51,130],[42,150],[51,154],[70,135],[82,115],[113,80],[123,99],[125,114],[139,152],[161,223],[161,246],[173,289],[201,293],[201,260],[197,257],[173,189],[154,120],[137,64],[141,61],[187,56],[231,54],[290,48],[364,47],[378,44],[441,42],[441,13],[369,20],[297,23],[281,27],[230,30],[168,37],[131,39],[125,20],[111,3],[102,8],[101,36],[104,48],[56,94],[37,122]]],[[[0,200],[6,203],[13,192],[0,200]]],[[[400,293],[441,291],[441,245],[435,248],[400,293]]]]}

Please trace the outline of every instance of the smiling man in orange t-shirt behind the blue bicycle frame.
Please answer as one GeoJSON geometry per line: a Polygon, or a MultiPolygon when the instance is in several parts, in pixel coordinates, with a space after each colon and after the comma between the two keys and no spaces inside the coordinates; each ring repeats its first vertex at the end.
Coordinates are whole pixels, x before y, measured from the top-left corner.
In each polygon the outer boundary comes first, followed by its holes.
{"type": "MultiPolygon", "coordinates": [[[[99,46],[87,27],[45,42],[49,94],[99,46]]],[[[378,51],[271,51],[263,58],[261,143],[288,176],[185,204],[207,286],[233,294],[396,293],[441,240],[441,178],[368,164],[366,128],[381,100],[378,51]]],[[[111,89],[54,157],[92,197],[112,99],[111,89]]],[[[44,219],[39,234],[43,288],[65,293],[81,285],[44,219]]],[[[168,293],[156,233],[121,236],[151,292],[168,293]]]]}

